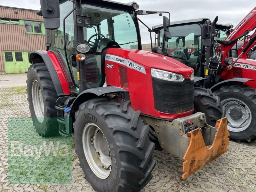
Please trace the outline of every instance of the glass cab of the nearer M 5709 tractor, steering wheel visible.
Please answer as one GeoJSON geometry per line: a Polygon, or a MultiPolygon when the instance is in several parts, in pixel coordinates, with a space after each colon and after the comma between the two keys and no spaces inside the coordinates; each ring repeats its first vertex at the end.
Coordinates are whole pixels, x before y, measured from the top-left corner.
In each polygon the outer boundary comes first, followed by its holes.
{"type": "Polygon", "coordinates": [[[135,3],[102,2],[82,0],[81,10],[74,11],[73,2],[60,1],[60,27],[47,29],[48,50],[59,53],[70,68],[75,92],[79,92],[78,87],[83,91],[103,86],[107,48],[141,49],[137,16],[132,7],[135,3]],[[80,61],[76,61],[78,44],[87,48],[86,53],[80,52],[85,55],[80,61]]]}

